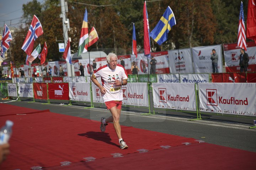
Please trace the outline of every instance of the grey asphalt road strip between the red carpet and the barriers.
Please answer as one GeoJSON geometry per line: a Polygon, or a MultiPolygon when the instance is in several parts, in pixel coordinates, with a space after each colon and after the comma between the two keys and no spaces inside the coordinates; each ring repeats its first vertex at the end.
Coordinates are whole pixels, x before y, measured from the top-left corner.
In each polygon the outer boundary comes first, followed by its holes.
{"type": "MultiPolygon", "coordinates": [[[[49,109],[50,112],[91,119],[92,121],[100,121],[102,116],[108,117],[108,115],[111,115],[104,105],[98,105],[101,108],[85,109],[84,103],[80,103],[80,106],[60,106],[59,103],[42,104],[26,101],[15,101],[8,104],[37,110],[49,109]]],[[[256,152],[256,129],[249,129],[249,126],[252,126],[253,118],[202,114],[203,118],[209,118],[188,121],[188,119],[196,118],[196,113],[156,110],[155,115],[141,115],[141,113],[146,112],[148,112],[148,108],[122,107],[120,124],[166,134],[192,137],[216,145],[256,152]]]]}

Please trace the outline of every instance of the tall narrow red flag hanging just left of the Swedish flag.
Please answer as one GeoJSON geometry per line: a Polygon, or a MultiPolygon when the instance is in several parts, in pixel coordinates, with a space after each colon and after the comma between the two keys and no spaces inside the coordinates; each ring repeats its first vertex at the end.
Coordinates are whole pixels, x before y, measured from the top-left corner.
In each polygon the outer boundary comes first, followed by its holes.
{"type": "Polygon", "coordinates": [[[150,39],[149,39],[149,22],[148,11],[146,10],[146,1],[143,7],[143,22],[144,22],[144,56],[150,58],[150,39]]]}

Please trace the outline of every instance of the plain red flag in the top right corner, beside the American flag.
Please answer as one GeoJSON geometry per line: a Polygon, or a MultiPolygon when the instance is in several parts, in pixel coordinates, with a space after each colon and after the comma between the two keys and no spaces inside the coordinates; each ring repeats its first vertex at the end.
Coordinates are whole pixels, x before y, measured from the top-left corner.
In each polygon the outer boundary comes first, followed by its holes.
{"type": "Polygon", "coordinates": [[[256,0],[248,0],[246,37],[256,43],[256,0]]]}

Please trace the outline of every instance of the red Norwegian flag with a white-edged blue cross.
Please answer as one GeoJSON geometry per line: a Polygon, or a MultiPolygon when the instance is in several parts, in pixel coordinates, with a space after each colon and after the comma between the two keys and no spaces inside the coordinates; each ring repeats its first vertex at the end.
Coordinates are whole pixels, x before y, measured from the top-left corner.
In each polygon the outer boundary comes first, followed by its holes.
{"type": "Polygon", "coordinates": [[[38,18],[34,15],[30,28],[28,29],[26,38],[21,47],[21,49],[24,50],[28,56],[30,56],[33,51],[34,41],[36,41],[36,39],[42,34],[43,34],[42,25],[38,20],[38,18]]]}

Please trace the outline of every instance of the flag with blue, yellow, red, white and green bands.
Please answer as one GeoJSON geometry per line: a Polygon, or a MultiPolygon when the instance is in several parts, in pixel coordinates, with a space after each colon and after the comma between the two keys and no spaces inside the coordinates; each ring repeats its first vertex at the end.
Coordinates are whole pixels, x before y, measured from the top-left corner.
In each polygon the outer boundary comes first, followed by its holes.
{"type": "Polygon", "coordinates": [[[89,42],[89,38],[88,38],[87,10],[85,8],[84,21],[82,23],[82,29],[81,29],[80,40],[79,40],[78,56],[80,56],[81,53],[84,53],[87,51],[87,49],[85,49],[85,45],[88,42],[89,42]]]}

